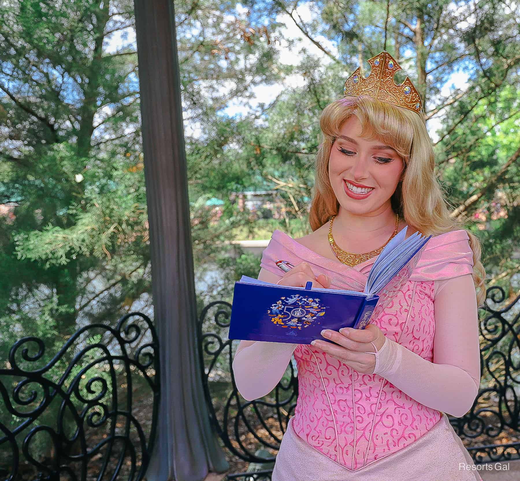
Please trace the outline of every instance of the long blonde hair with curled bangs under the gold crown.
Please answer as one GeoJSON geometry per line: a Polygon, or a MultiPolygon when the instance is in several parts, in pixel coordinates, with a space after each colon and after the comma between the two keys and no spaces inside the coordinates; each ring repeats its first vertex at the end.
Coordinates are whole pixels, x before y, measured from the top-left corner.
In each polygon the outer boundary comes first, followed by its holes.
{"type": "Polygon", "coordinates": [[[473,251],[473,282],[477,306],[486,299],[486,271],[480,256],[478,237],[450,216],[448,202],[434,174],[435,154],[422,116],[403,107],[373,99],[368,95],[346,96],[323,109],[320,115],[321,143],[315,158],[315,186],[311,199],[309,222],[316,230],[337,214],[340,204],[329,178],[329,157],[332,144],[340,135],[343,123],[355,115],[361,124],[363,138],[377,138],[395,148],[404,161],[404,176],[391,197],[392,209],[399,213],[414,231],[424,236],[440,235],[464,229],[473,251]]]}

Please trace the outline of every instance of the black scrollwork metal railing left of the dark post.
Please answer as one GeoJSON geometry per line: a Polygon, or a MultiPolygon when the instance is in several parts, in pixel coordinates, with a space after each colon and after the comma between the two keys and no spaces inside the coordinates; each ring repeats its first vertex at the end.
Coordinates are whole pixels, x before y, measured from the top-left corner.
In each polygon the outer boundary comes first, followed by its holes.
{"type": "Polygon", "coordinates": [[[16,342],[0,365],[0,479],[140,481],[157,425],[158,349],[139,312],[80,328],[56,354],[38,337],[16,342]]]}

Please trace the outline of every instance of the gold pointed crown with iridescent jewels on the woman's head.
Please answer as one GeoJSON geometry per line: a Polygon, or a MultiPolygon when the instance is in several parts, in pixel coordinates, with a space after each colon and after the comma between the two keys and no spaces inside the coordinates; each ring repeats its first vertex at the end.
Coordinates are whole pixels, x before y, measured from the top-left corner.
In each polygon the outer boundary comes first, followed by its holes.
{"type": "Polygon", "coordinates": [[[405,107],[422,115],[422,101],[419,92],[406,77],[401,85],[394,82],[394,74],[402,70],[394,57],[386,50],[368,60],[372,66],[370,75],[365,78],[361,75],[361,68],[357,67],[350,77],[345,80],[344,95],[369,95],[398,107],[405,107]]]}

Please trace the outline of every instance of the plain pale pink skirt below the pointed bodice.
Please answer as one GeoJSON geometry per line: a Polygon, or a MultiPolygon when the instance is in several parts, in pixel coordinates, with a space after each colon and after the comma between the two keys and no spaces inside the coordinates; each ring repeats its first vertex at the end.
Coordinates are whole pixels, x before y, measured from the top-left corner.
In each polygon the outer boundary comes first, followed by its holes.
{"type": "Polygon", "coordinates": [[[355,471],[336,463],[298,436],[291,417],[272,481],[482,481],[448,416],[417,441],[355,471]]]}

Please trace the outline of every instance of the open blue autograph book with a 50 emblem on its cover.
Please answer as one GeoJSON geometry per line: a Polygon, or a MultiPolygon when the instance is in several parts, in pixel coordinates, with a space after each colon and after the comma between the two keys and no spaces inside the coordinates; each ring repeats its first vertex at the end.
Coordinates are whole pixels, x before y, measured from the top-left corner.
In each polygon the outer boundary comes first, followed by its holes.
{"type": "Polygon", "coordinates": [[[410,279],[426,242],[419,232],[408,239],[401,229],[385,245],[368,274],[363,292],[276,285],[242,276],[235,282],[229,339],[310,344],[322,329],[364,329],[410,279]]]}

